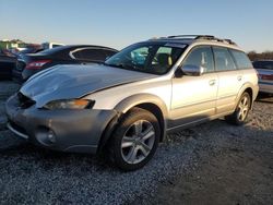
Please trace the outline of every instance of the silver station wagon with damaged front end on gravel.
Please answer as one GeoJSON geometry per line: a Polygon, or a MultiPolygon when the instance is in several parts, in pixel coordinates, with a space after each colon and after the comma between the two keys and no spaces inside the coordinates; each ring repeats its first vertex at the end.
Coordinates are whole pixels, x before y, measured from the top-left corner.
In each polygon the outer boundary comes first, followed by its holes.
{"type": "Polygon", "coordinates": [[[96,65],[56,65],[7,104],[8,128],[62,152],[106,152],[122,170],[143,167],[167,133],[225,117],[244,124],[258,94],[246,53],[205,35],[154,38],[96,65]]]}

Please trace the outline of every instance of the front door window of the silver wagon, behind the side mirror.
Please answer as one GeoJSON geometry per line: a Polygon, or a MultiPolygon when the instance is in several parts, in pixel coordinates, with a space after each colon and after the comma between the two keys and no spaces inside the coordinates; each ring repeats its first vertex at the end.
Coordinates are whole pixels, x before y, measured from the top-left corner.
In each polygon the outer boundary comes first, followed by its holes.
{"type": "Polygon", "coordinates": [[[211,47],[198,47],[192,49],[190,55],[183,61],[183,65],[197,65],[203,67],[205,70],[204,72],[213,72],[214,71],[214,63],[213,63],[213,53],[211,47]]]}

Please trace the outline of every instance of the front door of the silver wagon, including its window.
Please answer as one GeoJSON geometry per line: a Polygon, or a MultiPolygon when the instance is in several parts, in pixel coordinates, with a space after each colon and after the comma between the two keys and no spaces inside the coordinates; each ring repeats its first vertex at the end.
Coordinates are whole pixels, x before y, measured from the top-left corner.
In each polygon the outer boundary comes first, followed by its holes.
{"type": "Polygon", "coordinates": [[[205,69],[201,76],[183,75],[173,79],[170,126],[179,126],[215,114],[218,77],[214,72],[212,48],[199,46],[186,57],[182,65],[205,69]]]}

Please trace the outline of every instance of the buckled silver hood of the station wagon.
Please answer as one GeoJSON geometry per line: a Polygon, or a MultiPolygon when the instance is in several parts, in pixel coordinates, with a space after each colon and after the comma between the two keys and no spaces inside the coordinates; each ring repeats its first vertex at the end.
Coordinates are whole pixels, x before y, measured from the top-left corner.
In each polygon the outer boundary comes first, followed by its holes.
{"type": "Polygon", "coordinates": [[[57,99],[81,98],[108,87],[156,77],[102,64],[56,65],[31,77],[20,92],[37,107],[57,99]]]}

